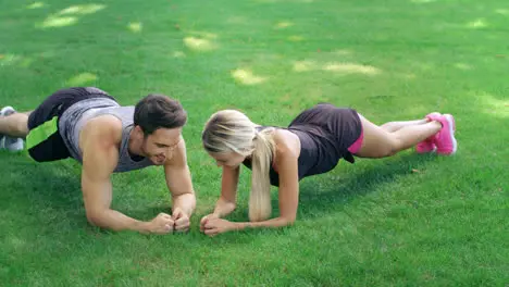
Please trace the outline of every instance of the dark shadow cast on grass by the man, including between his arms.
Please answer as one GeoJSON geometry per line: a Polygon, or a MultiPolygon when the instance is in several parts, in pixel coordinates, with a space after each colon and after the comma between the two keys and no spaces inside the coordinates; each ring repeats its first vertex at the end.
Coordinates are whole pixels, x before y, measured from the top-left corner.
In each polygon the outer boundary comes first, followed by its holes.
{"type": "MultiPolygon", "coordinates": [[[[0,177],[7,187],[0,194],[0,209],[5,215],[4,222],[0,223],[0,228],[3,228],[5,234],[23,241],[35,240],[35,237],[45,235],[46,239],[52,238],[49,241],[54,241],[55,245],[75,237],[91,237],[107,241],[115,240],[115,237],[131,238],[126,233],[101,229],[87,222],[80,190],[80,165],[72,160],[36,163],[26,154],[0,152],[0,169],[9,174],[9,176],[0,177]],[[18,226],[24,227],[20,228],[18,226]],[[110,236],[115,234],[117,236],[110,236]]],[[[146,173],[134,173],[129,180],[139,180],[142,182],[141,185],[146,185],[147,182],[144,182],[144,177],[147,177],[146,173]]],[[[114,182],[119,182],[119,179],[127,178],[120,177],[114,182]]],[[[126,186],[136,189],[138,185],[129,184],[129,180],[117,183],[116,186],[120,186],[120,189],[126,186]]],[[[113,197],[124,197],[124,203],[132,201],[136,203],[123,204],[122,209],[116,210],[138,220],[150,221],[160,212],[171,214],[169,194],[163,197],[154,195],[154,198],[150,195],[147,199],[138,198],[136,191],[131,190],[128,194],[116,192],[113,197]]],[[[149,235],[148,238],[156,241],[170,240],[170,244],[175,242],[189,247],[196,241],[201,241],[206,246],[215,245],[216,240],[210,240],[209,237],[199,232],[199,221],[200,216],[191,217],[190,233],[169,235],[172,237],[171,239],[167,236],[159,235],[149,235]]],[[[238,245],[252,240],[250,235],[238,238],[235,238],[235,234],[232,235],[233,237],[223,237],[220,241],[238,245]]]]}

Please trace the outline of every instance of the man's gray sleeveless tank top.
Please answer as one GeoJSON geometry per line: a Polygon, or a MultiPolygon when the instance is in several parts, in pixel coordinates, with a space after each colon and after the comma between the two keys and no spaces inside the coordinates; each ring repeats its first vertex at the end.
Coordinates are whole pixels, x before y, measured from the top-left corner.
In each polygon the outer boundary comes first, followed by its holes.
{"type": "Polygon", "coordinates": [[[109,114],[122,121],[122,141],[119,149],[119,163],[114,172],[123,173],[153,165],[147,158],[140,158],[139,161],[136,161],[129,154],[128,147],[131,132],[134,127],[134,109],[133,105],[121,107],[117,102],[107,98],[87,99],[71,105],[59,121],[60,135],[71,157],[83,163],[79,133],[91,118],[109,114]]]}

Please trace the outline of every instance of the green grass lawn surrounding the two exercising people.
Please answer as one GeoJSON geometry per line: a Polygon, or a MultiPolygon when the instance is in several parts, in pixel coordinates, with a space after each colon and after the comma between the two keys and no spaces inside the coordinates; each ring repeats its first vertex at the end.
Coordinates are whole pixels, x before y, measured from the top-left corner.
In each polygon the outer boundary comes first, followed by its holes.
{"type": "MultiPolygon", "coordinates": [[[[184,136],[198,197],[189,234],[99,230],[85,219],[77,164],[1,152],[0,285],[509,284],[507,1],[0,7],[0,105],[34,109],[73,85],[98,86],[123,104],[171,95],[190,116],[184,136]],[[301,182],[295,226],[200,234],[199,219],[220,191],[220,170],[200,147],[210,114],[235,107],[254,122],[286,125],[319,101],[353,107],[378,124],[452,113],[458,154],[342,161],[301,182]]],[[[232,220],[247,220],[249,175],[232,220]]],[[[113,183],[114,209],[144,220],[169,210],[161,170],[113,183]]]]}

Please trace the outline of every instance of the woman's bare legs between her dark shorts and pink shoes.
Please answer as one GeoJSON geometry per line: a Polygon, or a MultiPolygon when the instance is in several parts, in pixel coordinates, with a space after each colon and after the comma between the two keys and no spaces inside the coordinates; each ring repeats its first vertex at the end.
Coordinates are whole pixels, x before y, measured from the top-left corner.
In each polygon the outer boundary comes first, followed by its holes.
{"type": "Polygon", "coordinates": [[[437,121],[402,122],[404,124],[389,125],[392,128],[387,128],[387,126],[383,128],[360,114],[359,117],[364,135],[361,148],[356,152],[356,155],[360,158],[384,158],[396,154],[436,135],[442,129],[442,124],[437,121]],[[396,127],[399,128],[396,129],[396,127]],[[393,129],[394,132],[389,132],[393,129]]]}

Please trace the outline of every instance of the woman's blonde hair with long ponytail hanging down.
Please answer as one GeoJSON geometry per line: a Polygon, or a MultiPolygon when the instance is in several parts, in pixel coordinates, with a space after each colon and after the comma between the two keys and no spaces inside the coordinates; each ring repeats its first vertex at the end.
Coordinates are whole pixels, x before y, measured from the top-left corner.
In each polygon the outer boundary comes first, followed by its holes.
{"type": "Polygon", "coordinates": [[[203,148],[208,152],[251,155],[249,220],[252,222],[266,220],[272,212],[270,166],[275,152],[273,130],[265,128],[258,132],[257,125],[244,113],[223,110],[209,118],[201,134],[203,148]]]}

